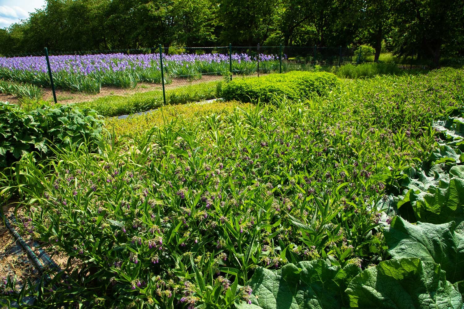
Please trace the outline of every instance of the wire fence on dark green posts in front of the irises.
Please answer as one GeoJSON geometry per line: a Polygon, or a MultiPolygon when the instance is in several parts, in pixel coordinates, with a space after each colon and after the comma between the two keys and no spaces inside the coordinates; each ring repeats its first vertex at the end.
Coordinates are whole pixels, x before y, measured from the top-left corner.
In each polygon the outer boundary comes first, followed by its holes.
{"type": "Polygon", "coordinates": [[[313,70],[316,65],[362,60],[361,49],[282,45],[53,50],[48,51],[50,57],[46,53],[45,49],[0,57],[0,80],[43,87],[53,92],[55,102],[52,83],[59,91],[91,94],[100,93],[102,87],[162,91],[163,102],[170,104],[214,98],[218,82],[233,76],[313,70]]]}

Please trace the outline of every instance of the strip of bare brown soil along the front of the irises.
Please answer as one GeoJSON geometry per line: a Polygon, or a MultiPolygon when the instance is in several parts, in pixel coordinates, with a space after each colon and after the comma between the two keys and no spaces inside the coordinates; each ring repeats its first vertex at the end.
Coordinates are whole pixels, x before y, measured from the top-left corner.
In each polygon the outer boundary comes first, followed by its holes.
{"type": "MultiPolygon", "coordinates": [[[[202,82],[213,82],[222,80],[222,76],[217,75],[203,75],[201,79],[189,81],[187,78],[174,78],[173,82],[165,85],[165,89],[174,89],[188,85],[199,84],[202,82]]],[[[55,89],[58,103],[68,104],[91,101],[103,96],[108,95],[134,95],[136,93],[143,93],[153,90],[161,90],[161,84],[139,82],[135,88],[117,88],[113,86],[102,87],[100,93],[97,94],[85,94],[82,92],[71,92],[68,90],[55,89]]],[[[53,102],[52,88],[43,88],[43,99],[45,101],[53,102]]],[[[19,98],[14,95],[0,94],[0,101],[10,102],[12,104],[18,104],[19,98]]]]}

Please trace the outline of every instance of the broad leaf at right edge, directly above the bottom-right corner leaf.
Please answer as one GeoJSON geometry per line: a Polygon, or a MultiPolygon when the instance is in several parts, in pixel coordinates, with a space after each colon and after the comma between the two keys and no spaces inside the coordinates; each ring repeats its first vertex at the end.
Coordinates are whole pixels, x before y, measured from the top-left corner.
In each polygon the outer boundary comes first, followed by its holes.
{"type": "Polygon", "coordinates": [[[388,252],[393,259],[419,258],[441,265],[451,283],[464,279],[464,235],[455,232],[455,223],[412,225],[401,217],[384,230],[388,252]]]}

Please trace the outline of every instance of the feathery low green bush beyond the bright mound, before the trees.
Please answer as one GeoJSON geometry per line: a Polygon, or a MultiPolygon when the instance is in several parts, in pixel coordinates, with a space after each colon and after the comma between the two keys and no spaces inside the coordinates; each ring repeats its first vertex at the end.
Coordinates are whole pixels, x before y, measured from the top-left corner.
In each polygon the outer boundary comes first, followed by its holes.
{"type": "Polygon", "coordinates": [[[334,73],[341,78],[373,77],[376,75],[401,75],[403,72],[395,63],[346,64],[336,68],[334,73]]]}

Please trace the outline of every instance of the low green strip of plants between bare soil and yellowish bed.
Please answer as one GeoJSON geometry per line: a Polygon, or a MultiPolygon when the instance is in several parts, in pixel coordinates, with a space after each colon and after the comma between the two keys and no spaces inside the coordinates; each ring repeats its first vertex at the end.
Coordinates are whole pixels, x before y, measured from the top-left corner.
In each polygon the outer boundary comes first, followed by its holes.
{"type": "MultiPolygon", "coordinates": [[[[174,105],[214,99],[217,97],[217,83],[218,82],[207,82],[169,89],[166,91],[166,103],[174,105]]],[[[80,108],[94,109],[100,115],[112,117],[145,112],[160,107],[162,103],[163,92],[161,90],[155,90],[137,93],[131,96],[105,96],[93,101],[77,103],[77,106],[80,108]]]]}

